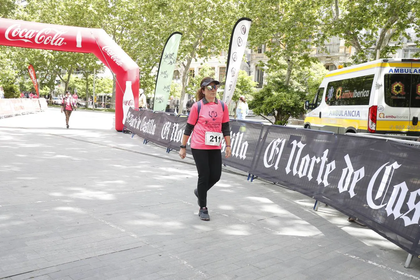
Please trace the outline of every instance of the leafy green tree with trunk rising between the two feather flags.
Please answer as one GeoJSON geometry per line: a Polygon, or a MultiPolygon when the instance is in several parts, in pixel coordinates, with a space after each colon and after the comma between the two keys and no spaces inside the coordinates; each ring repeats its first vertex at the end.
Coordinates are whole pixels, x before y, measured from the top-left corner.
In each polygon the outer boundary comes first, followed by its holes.
{"type": "Polygon", "coordinates": [[[179,0],[170,4],[165,13],[170,21],[168,25],[183,33],[178,50],[182,73],[179,107],[183,108],[191,61],[196,57],[205,61],[220,50],[227,50],[234,22],[241,16],[234,1],[179,0]],[[217,19],[213,19],[214,15],[217,19]]]}

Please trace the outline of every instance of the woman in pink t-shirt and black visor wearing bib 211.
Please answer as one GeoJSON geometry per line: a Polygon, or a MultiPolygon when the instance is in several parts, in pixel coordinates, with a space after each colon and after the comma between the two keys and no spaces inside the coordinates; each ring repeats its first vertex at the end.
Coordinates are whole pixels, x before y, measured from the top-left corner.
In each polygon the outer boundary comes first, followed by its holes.
{"type": "Polygon", "coordinates": [[[207,209],[207,191],[222,175],[221,142],[226,142],[226,158],[231,152],[228,106],[216,98],[219,81],[205,77],[197,90],[197,102],[191,107],[182,137],[179,156],[186,156],[186,143],[191,136],[191,152],[198,171],[197,196],[201,220],[210,220],[207,209]],[[194,129],[194,133],[192,130],[194,129]]]}

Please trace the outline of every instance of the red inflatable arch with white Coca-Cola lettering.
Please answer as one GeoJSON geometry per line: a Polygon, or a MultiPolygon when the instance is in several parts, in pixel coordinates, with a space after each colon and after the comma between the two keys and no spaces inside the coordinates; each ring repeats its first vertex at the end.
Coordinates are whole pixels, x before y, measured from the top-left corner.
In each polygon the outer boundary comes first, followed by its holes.
{"type": "Polygon", "coordinates": [[[139,66],[103,29],[0,18],[0,45],[93,53],[116,76],[115,129],[117,131],[123,130],[123,111],[129,106],[138,107],[139,66]],[[126,92],[126,85],[130,84],[134,99],[124,98],[123,110],[123,95],[126,92]]]}

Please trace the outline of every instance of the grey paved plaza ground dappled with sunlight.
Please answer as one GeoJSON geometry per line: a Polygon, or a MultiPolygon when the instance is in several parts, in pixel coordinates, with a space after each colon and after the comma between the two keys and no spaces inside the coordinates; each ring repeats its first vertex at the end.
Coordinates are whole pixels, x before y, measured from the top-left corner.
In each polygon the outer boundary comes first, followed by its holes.
{"type": "Polygon", "coordinates": [[[191,155],[114,114],[0,120],[0,279],[420,279],[420,260],[313,199],[223,167],[197,216],[191,155]]]}

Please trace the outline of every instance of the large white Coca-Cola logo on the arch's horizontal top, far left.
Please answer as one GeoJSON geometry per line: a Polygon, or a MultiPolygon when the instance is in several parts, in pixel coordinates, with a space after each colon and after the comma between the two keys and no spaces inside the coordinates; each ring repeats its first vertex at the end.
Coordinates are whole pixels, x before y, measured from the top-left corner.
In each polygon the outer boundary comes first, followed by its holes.
{"type": "Polygon", "coordinates": [[[24,41],[33,44],[50,44],[52,46],[61,46],[64,42],[63,34],[65,30],[53,29],[50,27],[35,30],[21,28],[20,24],[13,24],[5,32],[5,37],[9,41],[24,41]]]}

